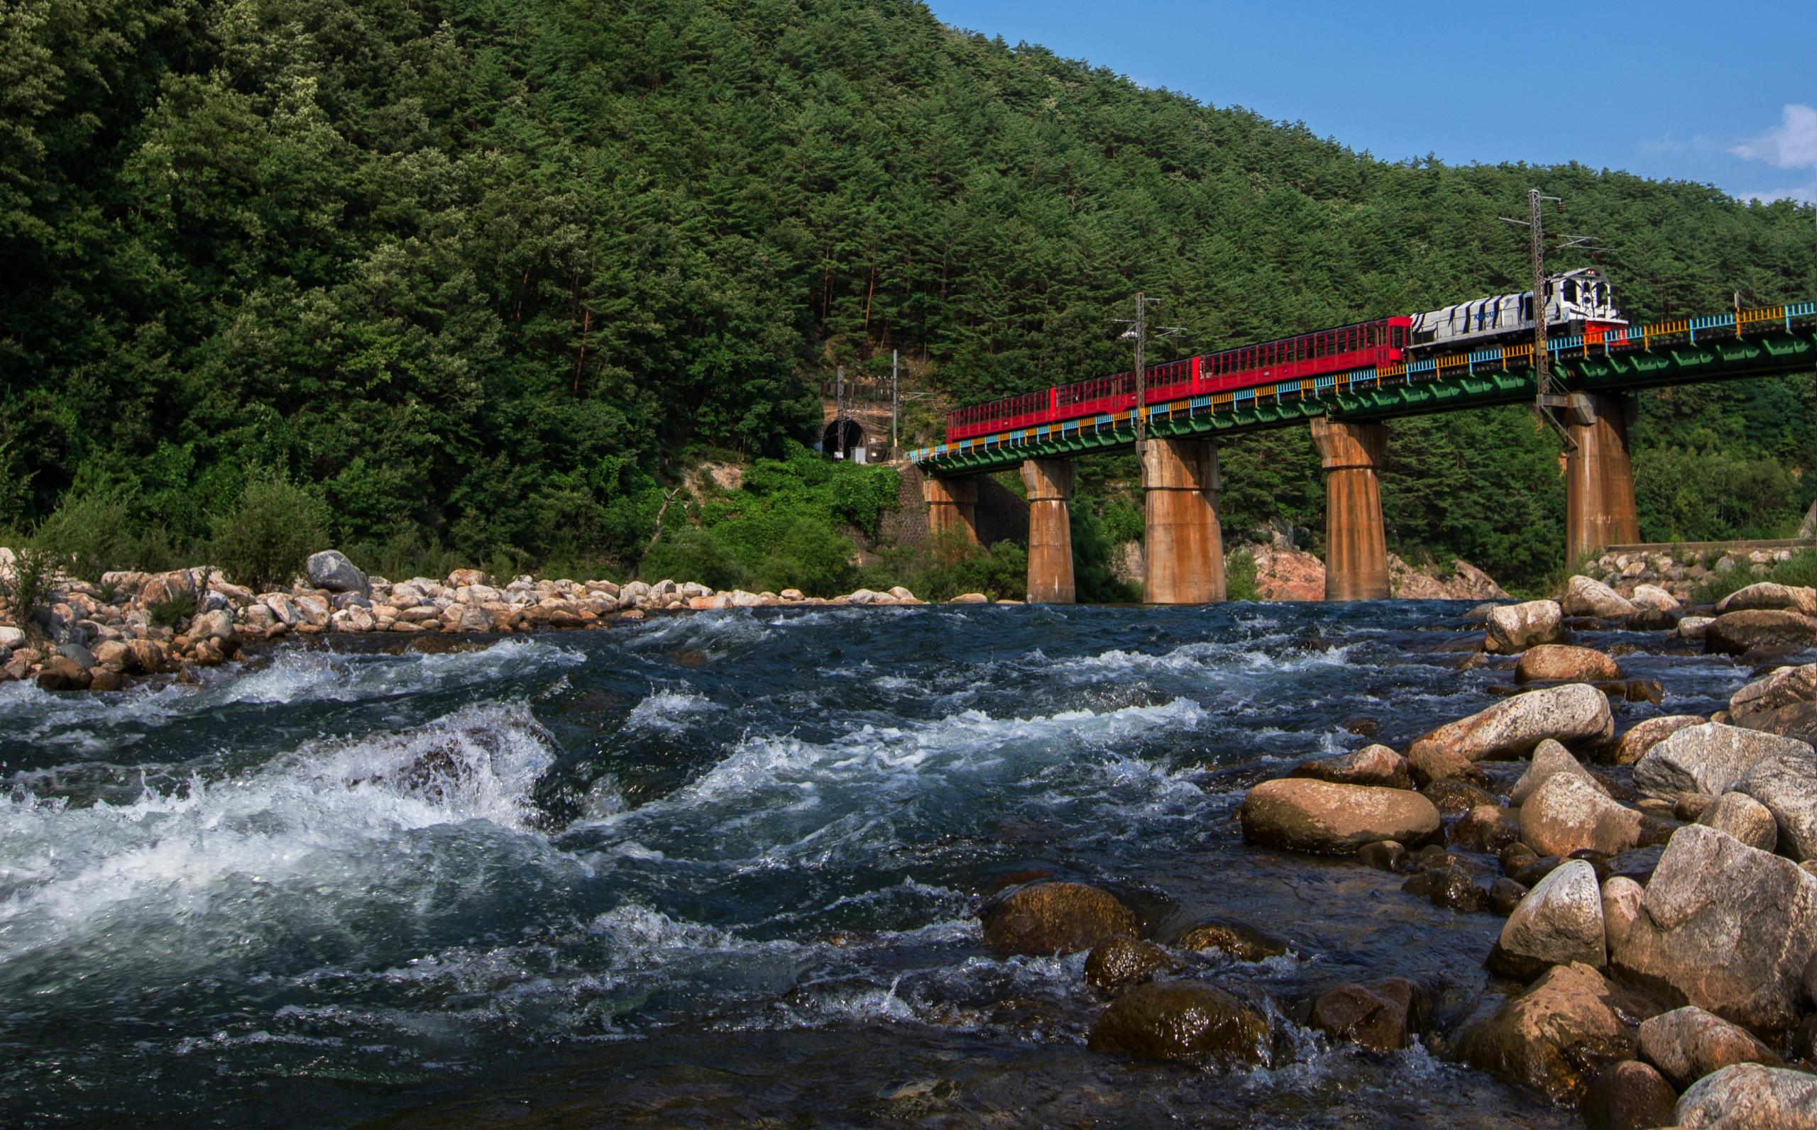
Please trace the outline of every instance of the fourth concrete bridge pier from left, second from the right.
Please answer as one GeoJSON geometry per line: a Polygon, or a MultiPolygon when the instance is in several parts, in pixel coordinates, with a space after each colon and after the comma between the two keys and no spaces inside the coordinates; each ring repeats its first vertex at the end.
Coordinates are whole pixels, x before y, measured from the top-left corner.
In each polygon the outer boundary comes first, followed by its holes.
{"type": "Polygon", "coordinates": [[[1325,600],[1388,600],[1381,463],[1388,425],[1312,418],[1325,463],[1325,600]]]}

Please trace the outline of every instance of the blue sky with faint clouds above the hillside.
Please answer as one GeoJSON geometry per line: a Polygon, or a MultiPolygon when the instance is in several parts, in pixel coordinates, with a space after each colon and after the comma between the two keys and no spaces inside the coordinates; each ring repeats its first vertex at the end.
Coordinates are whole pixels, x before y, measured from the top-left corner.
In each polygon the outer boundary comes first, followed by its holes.
{"type": "Polygon", "coordinates": [[[947,24],[1041,44],[1214,105],[1399,160],[1577,160],[1817,202],[1817,2],[1515,4],[930,0],[947,24]],[[1534,82],[1537,76],[1537,82],[1534,82]],[[1534,105],[1534,89],[1544,107],[1534,105]]]}

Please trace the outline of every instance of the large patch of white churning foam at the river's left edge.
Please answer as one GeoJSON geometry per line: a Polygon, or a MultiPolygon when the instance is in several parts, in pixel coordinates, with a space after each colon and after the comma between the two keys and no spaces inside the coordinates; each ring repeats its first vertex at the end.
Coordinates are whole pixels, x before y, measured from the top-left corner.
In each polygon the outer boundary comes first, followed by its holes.
{"type": "Polygon", "coordinates": [[[0,970],[78,941],[133,961],[144,937],[171,950],[153,959],[209,959],[262,934],[273,897],[329,919],[394,881],[394,897],[416,897],[409,887],[425,876],[398,854],[411,836],[476,827],[540,839],[529,796],[552,759],[525,707],[476,705],[125,805],[0,799],[0,970]]]}

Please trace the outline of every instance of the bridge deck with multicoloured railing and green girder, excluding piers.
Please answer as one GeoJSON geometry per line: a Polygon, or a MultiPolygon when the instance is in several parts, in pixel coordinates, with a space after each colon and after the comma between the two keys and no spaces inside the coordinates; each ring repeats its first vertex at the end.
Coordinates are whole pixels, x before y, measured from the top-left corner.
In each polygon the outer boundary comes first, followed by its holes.
{"type": "MultiPolygon", "coordinates": [[[[1764,376],[1817,367],[1817,302],[1554,338],[1552,369],[1568,391],[1764,376]]],[[[1187,436],[1279,427],[1308,416],[1414,416],[1532,400],[1534,347],[1497,345],[1148,405],[1148,432],[1187,436]]],[[[994,471],[1028,458],[1110,451],[1136,440],[1136,409],[1012,429],[908,452],[927,471],[994,471]]]]}

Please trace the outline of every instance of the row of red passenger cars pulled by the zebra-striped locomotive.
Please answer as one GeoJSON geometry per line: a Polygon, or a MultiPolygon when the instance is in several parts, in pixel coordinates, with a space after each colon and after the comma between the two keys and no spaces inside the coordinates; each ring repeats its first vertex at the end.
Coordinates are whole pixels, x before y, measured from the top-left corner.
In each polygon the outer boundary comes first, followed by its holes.
{"type": "MultiPolygon", "coordinates": [[[[1412,318],[1381,318],[1314,334],[1148,365],[1148,403],[1239,392],[1328,372],[1392,365],[1403,358],[1412,318]]],[[[996,432],[1087,420],[1136,407],[1136,372],[1117,372],[1045,392],[1010,396],[947,414],[947,443],[996,432]]]]}

